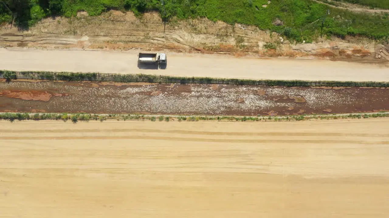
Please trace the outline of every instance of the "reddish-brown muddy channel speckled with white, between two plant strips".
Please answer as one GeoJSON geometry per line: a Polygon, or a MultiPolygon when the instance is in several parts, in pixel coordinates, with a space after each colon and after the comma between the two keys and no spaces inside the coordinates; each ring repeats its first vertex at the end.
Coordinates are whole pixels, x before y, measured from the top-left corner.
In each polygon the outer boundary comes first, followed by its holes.
{"type": "Polygon", "coordinates": [[[275,116],[388,110],[389,89],[12,81],[1,112],[275,116]]]}

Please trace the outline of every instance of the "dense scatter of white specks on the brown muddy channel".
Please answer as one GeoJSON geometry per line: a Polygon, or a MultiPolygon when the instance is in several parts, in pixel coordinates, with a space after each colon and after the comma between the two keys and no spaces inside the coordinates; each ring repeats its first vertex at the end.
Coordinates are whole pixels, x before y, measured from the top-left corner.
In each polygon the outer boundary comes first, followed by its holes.
{"type": "MultiPolygon", "coordinates": [[[[67,85],[55,82],[12,82],[0,83],[0,89],[12,90],[56,90],[56,93],[68,93],[67,97],[52,97],[49,102],[24,101],[26,108],[36,107],[47,111],[95,111],[95,112],[150,112],[165,114],[254,114],[288,107],[294,109],[331,108],[340,105],[352,105],[357,101],[358,92],[363,90],[342,89],[325,90],[312,88],[286,88],[263,86],[219,86],[217,90],[210,85],[179,85],[166,87],[145,85],[137,87],[105,86],[90,88],[83,85],[67,85]],[[180,89],[178,88],[180,87],[180,89]],[[181,91],[184,89],[184,91],[181,91]],[[266,90],[259,95],[258,90],[266,90]],[[191,90],[191,91],[188,91],[191,90]],[[151,92],[161,94],[152,96],[151,92]],[[182,93],[186,93],[183,95],[182,93]],[[352,93],[352,94],[350,94],[352,93]],[[294,102],[293,97],[306,100],[294,102]],[[239,102],[239,99],[244,101],[239,102]],[[274,100],[277,99],[277,100],[274,100]]],[[[20,99],[12,99],[20,104],[20,99]]],[[[278,111],[280,112],[280,111],[278,111]]]]}

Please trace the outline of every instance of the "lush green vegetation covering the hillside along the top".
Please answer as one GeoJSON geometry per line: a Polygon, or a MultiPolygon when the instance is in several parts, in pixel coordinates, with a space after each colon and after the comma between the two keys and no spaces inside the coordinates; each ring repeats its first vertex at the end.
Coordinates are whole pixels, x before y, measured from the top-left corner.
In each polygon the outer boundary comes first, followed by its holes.
{"type": "MultiPolygon", "coordinates": [[[[370,7],[388,8],[387,0],[344,0],[370,7]]],[[[212,21],[240,23],[278,31],[289,40],[312,42],[321,34],[363,35],[387,42],[388,13],[358,13],[332,8],[313,0],[2,0],[0,24],[12,20],[20,29],[28,29],[44,17],[76,16],[79,11],[97,16],[110,9],[131,10],[136,16],[157,11],[164,21],[177,22],[197,17],[212,21]],[[330,14],[327,14],[330,10],[330,14]],[[305,28],[322,18],[321,22],[305,28]],[[281,22],[280,22],[281,21],[281,22]]],[[[336,1],[322,0],[336,5],[336,1]]]]}

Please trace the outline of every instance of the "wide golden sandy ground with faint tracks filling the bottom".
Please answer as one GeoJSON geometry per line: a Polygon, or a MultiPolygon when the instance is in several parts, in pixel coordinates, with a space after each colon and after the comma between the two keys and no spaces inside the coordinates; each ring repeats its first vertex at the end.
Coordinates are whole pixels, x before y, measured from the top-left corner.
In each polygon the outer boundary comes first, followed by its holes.
{"type": "Polygon", "coordinates": [[[389,119],[1,122],[1,217],[389,215],[389,119]]]}

